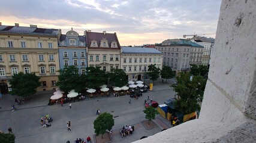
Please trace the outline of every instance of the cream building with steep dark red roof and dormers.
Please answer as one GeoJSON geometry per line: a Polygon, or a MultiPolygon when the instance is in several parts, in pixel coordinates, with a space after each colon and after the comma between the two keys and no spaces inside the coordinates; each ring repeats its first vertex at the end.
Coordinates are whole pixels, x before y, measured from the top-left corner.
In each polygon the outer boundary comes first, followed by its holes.
{"type": "Polygon", "coordinates": [[[121,46],[116,33],[86,31],[88,66],[100,66],[106,72],[121,67],[121,46]]]}

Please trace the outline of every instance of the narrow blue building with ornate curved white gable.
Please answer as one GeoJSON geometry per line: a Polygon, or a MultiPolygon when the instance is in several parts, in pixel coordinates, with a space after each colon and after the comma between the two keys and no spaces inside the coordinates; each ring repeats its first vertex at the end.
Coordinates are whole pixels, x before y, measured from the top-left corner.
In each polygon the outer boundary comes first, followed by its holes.
{"type": "Polygon", "coordinates": [[[87,67],[85,36],[79,36],[71,29],[66,35],[61,35],[58,51],[60,69],[74,65],[79,69],[79,74],[85,74],[87,67]]]}

